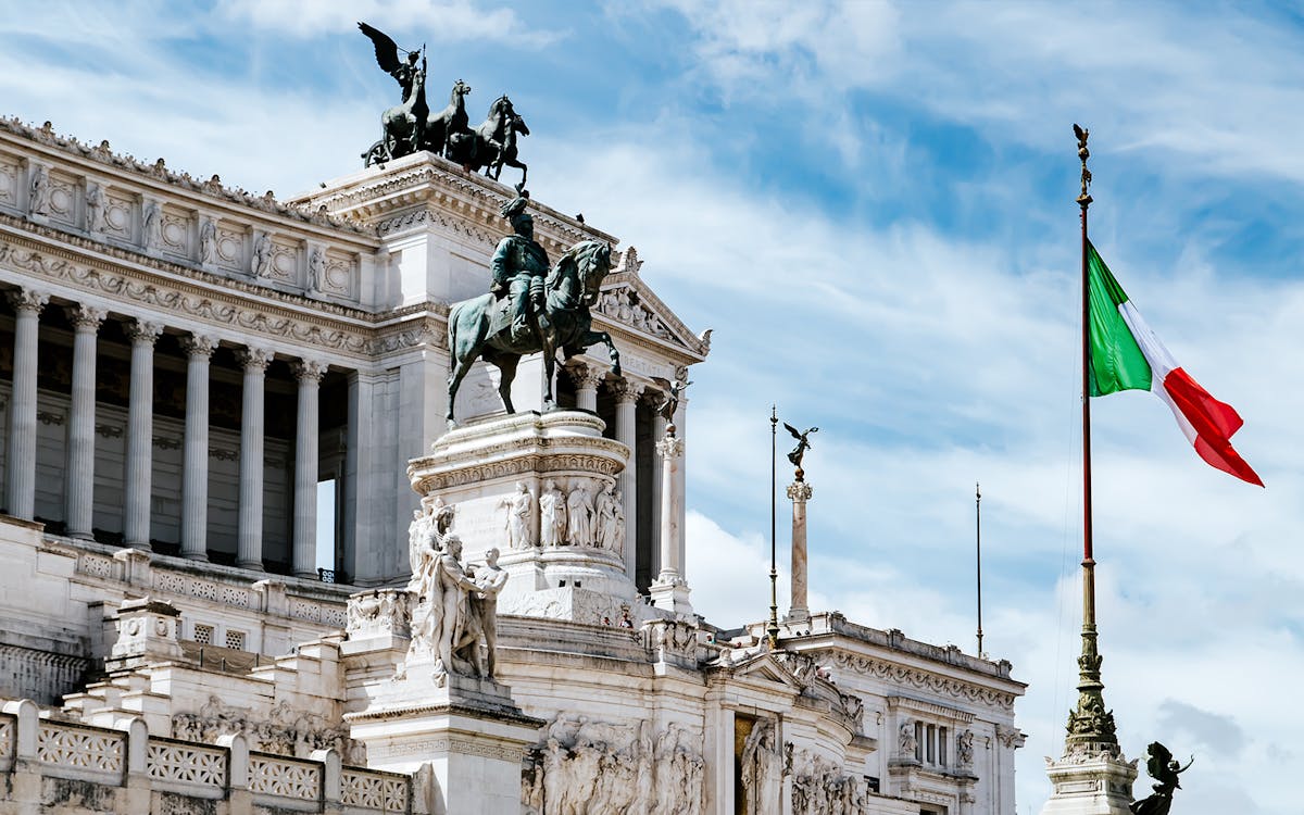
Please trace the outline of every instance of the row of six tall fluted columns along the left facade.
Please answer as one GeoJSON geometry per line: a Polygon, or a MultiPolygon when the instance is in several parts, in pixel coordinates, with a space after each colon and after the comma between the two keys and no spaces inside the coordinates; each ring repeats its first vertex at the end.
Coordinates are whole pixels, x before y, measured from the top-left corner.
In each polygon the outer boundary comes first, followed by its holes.
{"type": "MultiPolygon", "coordinates": [[[[8,292],[14,319],[13,389],[9,398],[9,429],[5,449],[5,506],[9,515],[33,520],[37,481],[37,373],[40,313],[50,303],[44,292],[21,288],[8,292]]],[[[73,325],[72,400],[68,420],[65,523],[69,537],[93,537],[95,485],[95,356],[104,309],[65,306],[73,325]]],[[[150,549],[150,496],[154,455],[154,347],[164,326],[143,318],[128,318],[125,334],[132,344],[128,396],[125,502],[123,542],[150,549]]],[[[209,507],[209,360],[219,340],[190,333],[181,339],[186,355],[184,468],[181,475],[181,556],[206,561],[209,507]]],[[[273,351],[240,347],[244,369],[240,420],[240,498],[237,519],[237,565],[261,570],[263,561],[262,489],[265,436],[265,377],[273,351]]],[[[299,421],[295,438],[292,571],[317,576],[317,464],[318,387],[326,364],[313,359],[291,360],[299,389],[299,421]]]]}

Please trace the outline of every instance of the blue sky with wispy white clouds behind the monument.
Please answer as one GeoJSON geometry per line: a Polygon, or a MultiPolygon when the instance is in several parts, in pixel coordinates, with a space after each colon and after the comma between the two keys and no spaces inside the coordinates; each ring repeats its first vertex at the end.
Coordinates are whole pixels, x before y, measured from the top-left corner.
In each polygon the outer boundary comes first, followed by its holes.
{"type": "MultiPolygon", "coordinates": [[[[1031,683],[1018,812],[1073,702],[1078,166],[1091,233],[1267,482],[1201,463],[1146,394],[1094,403],[1107,700],[1129,755],[1197,754],[1183,812],[1297,812],[1304,670],[1304,26],[1260,4],[472,0],[14,3],[0,111],[288,196],[352,172],[393,81],[509,93],[533,194],[639,248],[716,330],[689,420],[690,582],[768,605],[768,407],[819,425],[812,606],[1031,683]],[[518,8],[519,7],[519,8],[518,8]]],[[[442,94],[437,94],[442,96],[442,94]]],[[[473,116],[475,117],[475,116],[473,116]]],[[[781,557],[782,559],[782,557],[781,557]]],[[[1141,789],[1141,788],[1138,788],[1141,789]]]]}

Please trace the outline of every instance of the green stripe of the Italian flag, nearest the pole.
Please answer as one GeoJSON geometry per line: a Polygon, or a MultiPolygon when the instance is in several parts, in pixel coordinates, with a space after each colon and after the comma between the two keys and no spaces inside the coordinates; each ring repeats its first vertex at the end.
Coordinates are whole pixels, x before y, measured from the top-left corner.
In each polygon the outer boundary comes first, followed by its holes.
{"type": "Polygon", "coordinates": [[[1119,313],[1119,306],[1128,301],[1128,295],[1110,274],[1110,267],[1101,259],[1095,246],[1088,244],[1086,258],[1090,278],[1091,395],[1150,390],[1150,365],[1119,313]]]}

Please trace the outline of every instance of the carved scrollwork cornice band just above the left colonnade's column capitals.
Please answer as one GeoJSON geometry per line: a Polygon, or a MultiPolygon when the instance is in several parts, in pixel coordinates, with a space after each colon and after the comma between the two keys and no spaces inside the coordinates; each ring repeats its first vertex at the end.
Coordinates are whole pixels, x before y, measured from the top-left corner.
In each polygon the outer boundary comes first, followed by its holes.
{"type": "MultiPolygon", "coordinates": [[[[258,334],[266,340],[279,340],[270,344],[282,348],[288,340],[353,357],[430,343],[432,336],[436,344],[443,344],[442,304],[370,314],[106,246],[0,213],[0,274],[5,270],[63,283],[126,306],[172,310],[240,335],[228,338],[232,342],[244,343],[249,334],[258,334]],[[402,326],[404,317],[432,310],[436,317],[426,317],[416,333],[399,327],[386,334],[376,326],[381,321],[385,329],[402,326]]],[[[21,286],[29,280],[9,282],[21,286]]]]}

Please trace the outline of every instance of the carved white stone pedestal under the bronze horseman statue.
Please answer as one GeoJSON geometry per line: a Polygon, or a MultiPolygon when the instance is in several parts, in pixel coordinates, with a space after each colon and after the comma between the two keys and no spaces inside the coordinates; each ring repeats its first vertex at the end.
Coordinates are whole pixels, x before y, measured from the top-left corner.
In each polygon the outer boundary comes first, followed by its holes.
{"type": "Polygon", "coordinates": [[[498,613],[601,622],[619,619],[622,605],[636,605],[623,553],[632,542],[599,528],[597,496],[629,460],[629,449],[604,438],[604,428],[597,416],[576,411],[515,413],[451,430],[430,455],[408,464],[412,488],[430,499],[425,503],[437,498],[451,507],[451,532],[468,562],[499,550],[510,579],[498,613]],[[522,486],[531,494],[528,518],[512,532],[512,501],[522,486]],[[579,489],[585,493],[575,498],[579,489]],[[587,522],[574,523],[585,506],[587,522]],[[553,516],[562,518],[561,527],[553,516]]]}

